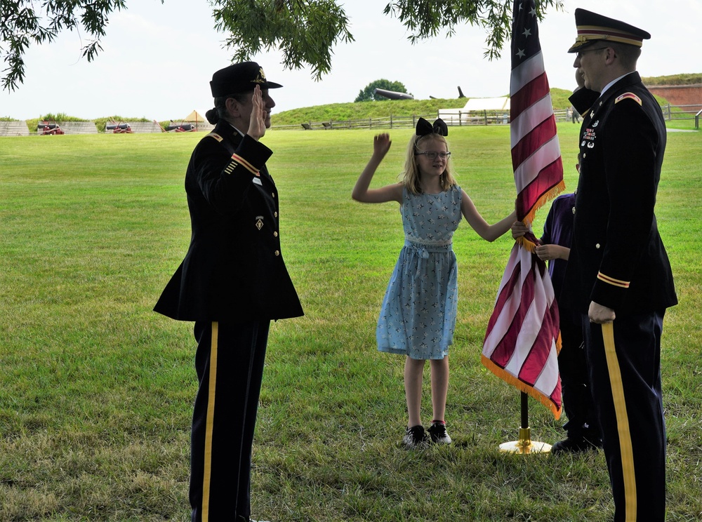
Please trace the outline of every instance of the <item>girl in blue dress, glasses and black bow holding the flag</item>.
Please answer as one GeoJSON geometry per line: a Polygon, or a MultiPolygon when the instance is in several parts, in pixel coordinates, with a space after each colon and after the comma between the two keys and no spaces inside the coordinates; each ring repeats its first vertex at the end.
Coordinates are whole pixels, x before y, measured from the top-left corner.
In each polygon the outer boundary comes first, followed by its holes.
{"type": "Polygon", "coordinates": [[[397,201],[405,242],[390,276],[376,329],[380,352],[406,356],[404,390],[409,422],[402,439],[408,448],[428,442],[451,443],[444,413],[449,387],[449,346],[458,301],[458,269],[451,247],[461,215],[487,241],[510,229],[515,213],[489,225],[451,173],[446,123],[420,118],[409,141],[402,182],[369,189],[373,174],[390,149],[390,135],[373,138],[373,155],[352,198],[364,203],[397,201]],[[432,422],[427,434],[420,420],[423,370],[430,361],[432,422]]]}

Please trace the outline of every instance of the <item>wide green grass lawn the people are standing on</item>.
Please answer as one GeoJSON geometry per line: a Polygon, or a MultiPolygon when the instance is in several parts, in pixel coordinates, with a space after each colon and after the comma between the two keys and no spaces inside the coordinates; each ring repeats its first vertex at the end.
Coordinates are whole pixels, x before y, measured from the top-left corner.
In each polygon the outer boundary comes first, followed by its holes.
{"type": "MultiPolygon", "coordinates": [[[[559,124],[569,189],[578,126],[559,124]]],[[[374,186],[402,170],[392,131],[374,186]]],[[[273,521],[607,521],[602,453],[505,455],[519,392],[480,363],[512,240],[454,236],[454,443],[406,451],[402,358],[379,354],[402,247],[397,205],[352,186],[372,131],[270,131],[283,253],[305,316],[272,325],[253,513],[273,521]]],[[[0,520],[187,521],[192,324],[152,312],[190,239],[183,177],[201,134],[0,138],[0,520]]],[[[509,129],[451,128],[458,181],[489,222],[515,199],[509,129]]],[[[670,133],[656,213],[680,304],[663,335],[668,521],[702,517],[702,136],[670,133]]],[[[541,227],[546,209],[541,210],[541,227]]],[[[537,232],[540,232],[538,230],[537,232]]],[[[428,370],[425,372],[428,381],[428,370]]],[[[425,382],[425,420],[430,414],[425,382]]],[[[531,436],[562,436],[530,401],[531,436]]]]}

